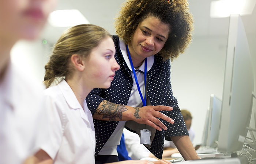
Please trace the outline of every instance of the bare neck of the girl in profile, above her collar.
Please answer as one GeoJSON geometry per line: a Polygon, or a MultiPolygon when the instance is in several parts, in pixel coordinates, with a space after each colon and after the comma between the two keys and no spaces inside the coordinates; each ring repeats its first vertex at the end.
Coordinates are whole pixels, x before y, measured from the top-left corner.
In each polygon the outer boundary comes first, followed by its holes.
{"type": "Polygon", "coordinates": [[[84,99],[87,97],[87,95],[90,93],[92,89],[86,88],[86,85],[84,84],[82,79],[76,77],[77,76],[74,74],[74,76],[71,79],[66,79],[66,81],[68,85],[71,87],[72,91],[74,92],[79,104],[83,108],[84,99]]]}

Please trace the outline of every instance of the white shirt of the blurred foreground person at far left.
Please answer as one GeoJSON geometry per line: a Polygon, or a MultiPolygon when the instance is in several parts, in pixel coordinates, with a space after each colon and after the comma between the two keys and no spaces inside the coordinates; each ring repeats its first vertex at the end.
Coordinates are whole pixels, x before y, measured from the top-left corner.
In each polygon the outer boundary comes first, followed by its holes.
{"type": "Polygon", "coordinates": [[[0,163],[20,164],[48,138],[44,86],[12,63],[0,83],[0,163]]]}

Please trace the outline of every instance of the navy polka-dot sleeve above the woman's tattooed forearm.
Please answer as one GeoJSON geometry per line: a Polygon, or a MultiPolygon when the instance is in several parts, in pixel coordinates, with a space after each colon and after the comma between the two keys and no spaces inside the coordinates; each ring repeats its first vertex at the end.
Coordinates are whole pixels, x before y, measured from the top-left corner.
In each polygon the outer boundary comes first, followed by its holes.
{"type": "Polygon", "coordinates": [[[103,98],[103,91],[104,89],[95,88],[86,97],[86,102],[92,115],[95,113],[99,104],[105,100],[105,98],[103,98]]]}

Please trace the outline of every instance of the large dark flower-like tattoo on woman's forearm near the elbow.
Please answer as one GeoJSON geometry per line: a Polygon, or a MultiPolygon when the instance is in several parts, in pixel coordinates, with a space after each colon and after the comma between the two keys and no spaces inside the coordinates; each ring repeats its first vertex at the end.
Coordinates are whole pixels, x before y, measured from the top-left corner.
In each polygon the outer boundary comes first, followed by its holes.
{"type": "Polygon", "coordinates": [[[128,110],[125,105],[114,104],[112,102],[103,101],[103,105],[95,110],[95,114],[103,115],[102,118],[109,118],[109,121],[115,121],[116,118],[122,120],[123,112],[128,110]]]}

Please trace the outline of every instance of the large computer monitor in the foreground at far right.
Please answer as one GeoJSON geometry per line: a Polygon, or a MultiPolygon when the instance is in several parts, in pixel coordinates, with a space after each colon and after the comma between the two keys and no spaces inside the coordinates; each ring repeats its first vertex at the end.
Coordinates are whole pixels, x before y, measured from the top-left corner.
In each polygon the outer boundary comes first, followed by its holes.
{"type": "Polygon", "coordinates": [[[222,95],[218,152],[237,152],[244,145],[252,114],[254,75],[240,15],[230,15],[222,95]]]}

